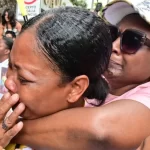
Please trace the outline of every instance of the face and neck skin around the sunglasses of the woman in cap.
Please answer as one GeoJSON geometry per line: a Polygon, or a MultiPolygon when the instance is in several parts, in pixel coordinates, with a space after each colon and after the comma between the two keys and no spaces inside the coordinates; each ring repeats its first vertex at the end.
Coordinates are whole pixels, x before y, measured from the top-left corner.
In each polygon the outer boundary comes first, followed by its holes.
{"type": "MultiPolygon", "coordinates": [[[[125,17],[119,24],[119,30],[136,29],[147,35],[150,39],[150,26],[139,16],[125,17]]],[[[110,58],[109,71],[106,78],[111,86],[111,94],[122,95],[125,92],[150,80],[150,48],[142,46],[137,53],[129,55],[120,50],[120,38],[113,42],[113,50],[110,58]],[[112,63],[119,64],[119,67],[112,63]]]]}

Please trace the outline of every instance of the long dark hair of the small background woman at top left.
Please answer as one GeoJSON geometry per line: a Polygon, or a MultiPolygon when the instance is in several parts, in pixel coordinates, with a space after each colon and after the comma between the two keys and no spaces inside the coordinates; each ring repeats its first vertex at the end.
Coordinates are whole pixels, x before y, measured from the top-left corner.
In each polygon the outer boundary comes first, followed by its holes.
{"type": "Polygon", "coordinates": [[[7,24],[7,21],[5,20],[5,13],[8,13],[8,19],[9,19],[9,22],[11,24],[11,27],[12,29],[15,28],[16,26],[16,19],[15,19],[15,13],[13,10],[9,9],[9,8],[6,8],[4,11],[3,11],[3,14],[2,14],[2,25],[5,26],[7,24]]]}

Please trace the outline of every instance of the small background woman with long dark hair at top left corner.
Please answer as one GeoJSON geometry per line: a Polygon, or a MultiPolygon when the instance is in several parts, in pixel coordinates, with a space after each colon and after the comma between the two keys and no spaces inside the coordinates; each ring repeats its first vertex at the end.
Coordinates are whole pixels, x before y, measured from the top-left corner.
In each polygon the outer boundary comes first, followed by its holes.
{"type": "Polygon", "coordinates": [[[16,35],[21,31],[22,25],[16,20],[13,10],[7,8],[2,14],[3,35],[6,31],[13,31],[16,35]]]}

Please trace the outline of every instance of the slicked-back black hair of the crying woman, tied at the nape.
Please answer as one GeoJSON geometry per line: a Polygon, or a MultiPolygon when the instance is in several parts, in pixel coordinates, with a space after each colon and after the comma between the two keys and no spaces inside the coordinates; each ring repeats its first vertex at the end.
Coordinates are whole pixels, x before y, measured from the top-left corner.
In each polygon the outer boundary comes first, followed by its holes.
{"type": "Polygon", "coordinates": [[[39,48],[58,67],[65,81],[88,76],[90,84],[83,96],[102,103],[109,87],[101,75],[108,67],[112,49],[105,22],[88,10],[62,7],[32,18],[23,25],[20,35],[32,27],[39,48]]]}

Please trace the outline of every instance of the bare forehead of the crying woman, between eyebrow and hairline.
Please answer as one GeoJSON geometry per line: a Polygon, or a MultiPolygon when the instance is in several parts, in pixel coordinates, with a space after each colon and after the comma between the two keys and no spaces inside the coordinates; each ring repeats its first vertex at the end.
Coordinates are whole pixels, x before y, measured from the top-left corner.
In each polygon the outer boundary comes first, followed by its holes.
{"type": "Polygon", "coordinates": [[[35,34],[30,30],[17,37],[10,54],[12,64],[18,64],[29,70],[33,68],[41,70],[47,67],[49,64],[44,58],[45,56],[37,46],[35,34]]]}

